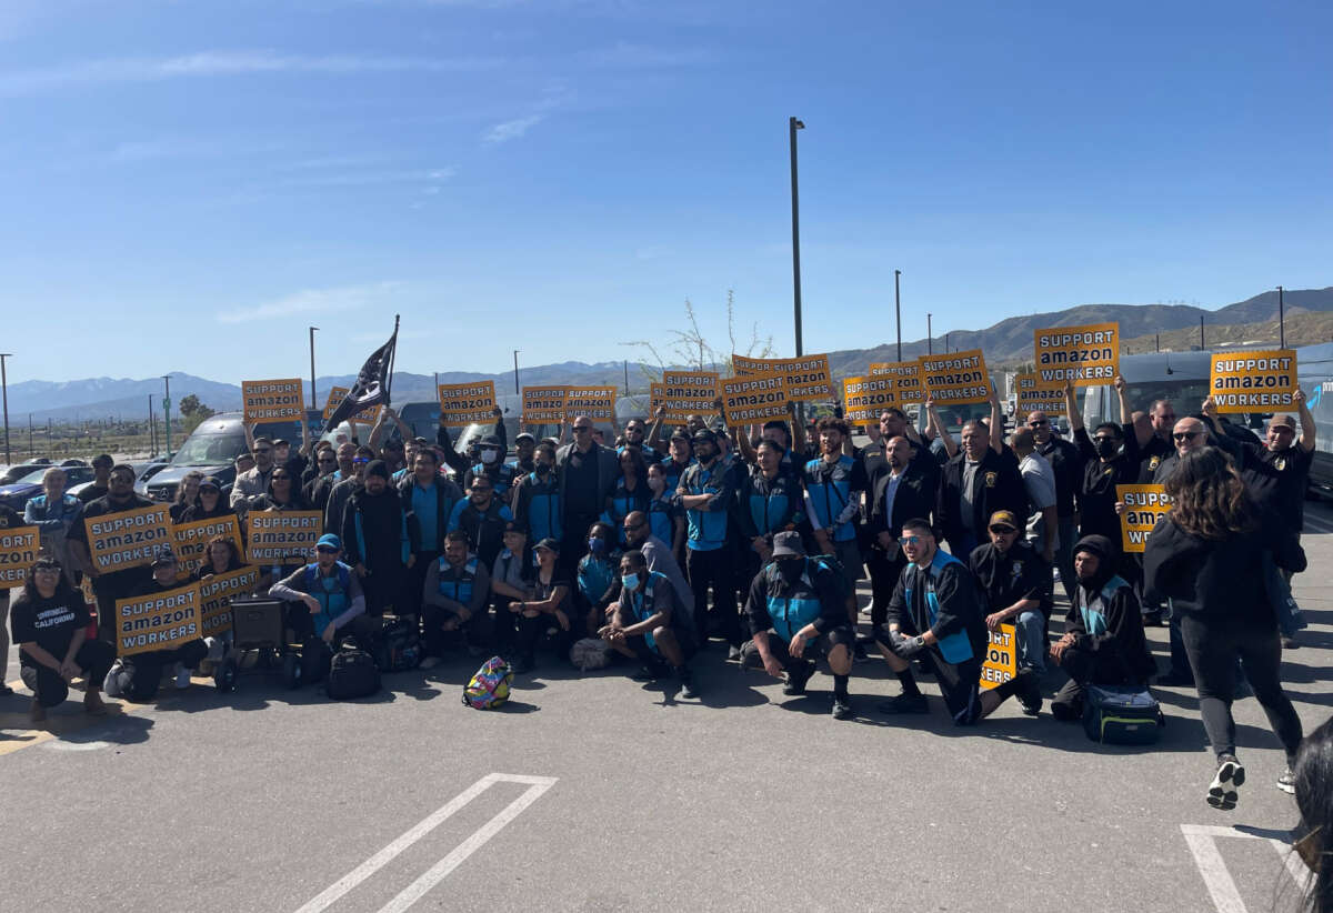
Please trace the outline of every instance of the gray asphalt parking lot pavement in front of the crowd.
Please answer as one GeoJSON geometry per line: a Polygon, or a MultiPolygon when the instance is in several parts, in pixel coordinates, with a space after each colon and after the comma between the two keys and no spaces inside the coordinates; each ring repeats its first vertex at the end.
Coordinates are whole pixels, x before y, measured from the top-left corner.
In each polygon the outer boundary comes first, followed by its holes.
{"type": "MultiPolygon", "coordinates": [[[[1309,516],[1296,594],[1310,628],[1284,657],[1308,729],[1333,704],[1333,509],[1309,516]]],[[[1165,668],[1166,632],[1149,633],[1165,668]]],[[[460,704],[480,664],[461,658],[351,704],[263,674],[93,725],[71,702],[55,737],[0,698],[4,908],[1297,908],[1266,840],[1294,804],[1253,700],[1236,705],[1250,780],[1221,813],[1204,802],[1192,690],[1154,689],[1160,745],[1108,748],[1012,704],[954,729],[929,680],[929,717],[882,717],[897,682],[880,662],[856,666],[857,718],[840,722],[826,676],[784,698],[721,656],[696,661],[701,701],[552,660],[483,713],[460,704]],[[492,773],[553,784],[501,780],[449,806],[492,773]]]]}

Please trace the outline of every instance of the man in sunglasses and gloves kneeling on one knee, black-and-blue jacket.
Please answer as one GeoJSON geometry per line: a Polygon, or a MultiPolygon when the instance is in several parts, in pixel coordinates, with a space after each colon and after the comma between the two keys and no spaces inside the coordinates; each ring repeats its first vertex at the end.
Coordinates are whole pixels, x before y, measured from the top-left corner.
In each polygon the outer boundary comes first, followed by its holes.
{"type": "Polygon", "coordinates": [[[904,693],[881,704],[885,713],[925,713],[925,696],[916,688],[908,664],[922,658],[934,672],[954,725],[968,726],[989,716],[1012,694],[1024,710],[1041,709],[1041,690],[1030,669],[981,690],[981,660],[989,637],[981,590],[968,565],[940,550],[925,520],[902,524],[898,540],[908,565],[889,600],[888,640],[876,642],[889,668],[902,680],[904,693]]]}

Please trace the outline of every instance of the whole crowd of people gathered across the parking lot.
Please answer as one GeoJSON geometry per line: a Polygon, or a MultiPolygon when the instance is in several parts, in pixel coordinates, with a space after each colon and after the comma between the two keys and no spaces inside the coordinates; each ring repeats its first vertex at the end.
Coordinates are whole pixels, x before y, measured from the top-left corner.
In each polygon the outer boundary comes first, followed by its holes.
{"type": "MultiPolygon", "coordinates": [[[[789,696],[826,660],[840,720],[854,713],[856,665],[878,658],[900,682],[882,713],[928,713],[917,676],[929,674],[957,725],[1009,697],[1030,716],[1049,697],[1056,720],[1078,720],[1089,686],[1153,681],[1145,625],[1169,624],[1170,668],[1157,681],[1196,684],[1217,754],[1208,800],[1233,808],[1245,780],[1238,694],[1253,692],[1290,764],[1301,741],[1280,681],[1281,650],[1297,646],[1280,593],[1305,566],[1314,421],[1298,396],[1298,416],[1273,416],[1260,440],[1212,400],[1177,419],[1166,400],[1136,412],[1125,383],[1114,387],[1120,421],[1092,431],[1066,391],[1068,437],[1044,412],[1006,428],[993,395],[989,417],[964,423],[957,440],[926,401],[924,429],[889,408],[856,447],[834,401],[817,423],[793,408],[730,429],[704,415],[674,427],[660,412],[613,427],[613,440],[580,416],[557,437],[519,433],[508,461],[499,409],[489,433],[456,448],[444,424],[433,441],[416,437],[385,408],[365,444],[305,436],[293,448],[247,428],[235,482],[187,476],[171,516],[321,512],[315,556],[259,568],[256,590],[285,602],[289,636],[325,668],[344,638],[372,641],[392,616],[419,632],[428,668],[499,653],[521,676],[593,641],[693,698],[692,666],[717,638],[726,661],[781,678],[789,696]],[[1173,508],[1145,554],[1126,553],[1116,486],[1149,481],[1173,508]],[[988,644],[1005,624],[1017,672],[985,688],[988,644]]],[[[180,574],[169,549],[147,568],[92,565],[83,521],[149,504],[128,465],[93,465],[79,498],[52,469],[23,517],[0,516],[40,526],[48,546],[11,613],[39,720],[76,676],[100,713],[103,685],[145,698],[227,652],[224,638],[199,638],[116,658],[116,600],[171,589],[180,574]]],[[[219,537],[195,576],[241,566],[219,537]]],[[[1293,788],[1292,766],[1278,785],[1293,788]]]]}

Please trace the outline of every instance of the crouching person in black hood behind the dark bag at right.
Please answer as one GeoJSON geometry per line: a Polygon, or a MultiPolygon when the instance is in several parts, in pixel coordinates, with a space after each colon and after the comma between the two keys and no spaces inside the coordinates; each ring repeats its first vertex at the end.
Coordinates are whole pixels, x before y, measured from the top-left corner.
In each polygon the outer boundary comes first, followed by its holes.
{"type": "Polygon", "coordinates": [[[1069,681],[1050,701],[1057,720],[1081,720],[1088,685],[1144,685],[1154,672],[1134,588],[1116,576],[1117,549],[1105,536],[1084,536],[1074,546],[1074,601],[1065,636],[1050,658],[1069,681]]]}

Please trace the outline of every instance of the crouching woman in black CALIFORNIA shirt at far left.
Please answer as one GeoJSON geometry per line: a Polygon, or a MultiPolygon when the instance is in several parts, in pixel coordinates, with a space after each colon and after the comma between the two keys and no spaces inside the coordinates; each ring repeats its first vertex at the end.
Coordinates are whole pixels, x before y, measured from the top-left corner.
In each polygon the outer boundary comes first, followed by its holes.
{"type": "Polygon", "coordinates": [[[19,642],[20,677],[32,689],[32,721],[47,718],[47,708],[69,696],[69,682],[83,676],[84,709],[107,713],[101,680],[111,669],[115,649],[103,640],[88,640],[88,609],[83,593],[69,585],[60,562],[37,558],[9,613],[19,642]]]}

